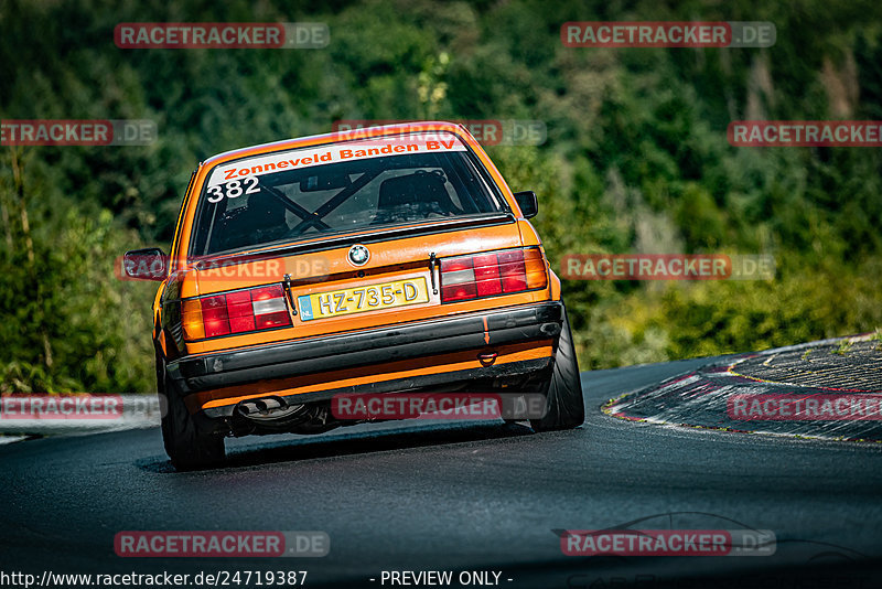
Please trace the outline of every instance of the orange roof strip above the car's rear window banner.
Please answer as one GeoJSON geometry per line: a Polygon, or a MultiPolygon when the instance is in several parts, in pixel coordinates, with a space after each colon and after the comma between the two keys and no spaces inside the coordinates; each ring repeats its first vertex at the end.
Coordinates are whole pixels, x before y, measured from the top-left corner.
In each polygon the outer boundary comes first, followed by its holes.
{"type": "Polygon", "coordinates": [[[202,165],[215,165],[217,163],[246,158],[249,156],[257,156],[268,153],[271,151],[281,151],[284,149],[294,149],[299,147],[318,146],[324,143],[340,143],[344,141],[353,141],[358,139],[377,138],[390,135],[400,135],[404,132],[431,132],[431,131],[448,131],[459,135],[473,146],[477,141],[469,130],[462,125],[445,121],[413,121],[413,122],[398,122],[395,125],[379,125],[376,127],[364,127],[358,129],[349,129],[346,131],[333,131],[330,133],[311,135],[308,137],[298,137],[293,139],[283,139],[281,141],[273,141],[270,143],[261,143],[259,146],[251,146],[247,148],[234,149],[213,156],[202,162],[202,165]]]}

